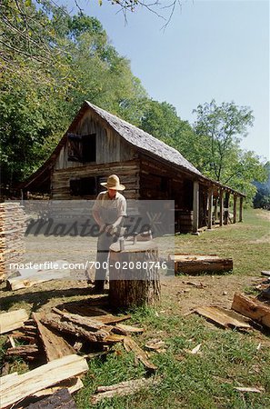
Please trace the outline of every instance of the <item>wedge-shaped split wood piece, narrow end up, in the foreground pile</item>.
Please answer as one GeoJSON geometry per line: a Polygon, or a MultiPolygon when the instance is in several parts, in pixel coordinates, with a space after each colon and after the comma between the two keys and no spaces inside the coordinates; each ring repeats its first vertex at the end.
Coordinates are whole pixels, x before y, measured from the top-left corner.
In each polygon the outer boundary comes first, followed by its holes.
{"type": "Polygon", "coordinates": [[[41,323],[40,319],[42,317],[45,317],[45,314],[33,314],[39,336],[45,348],[47,362],[54,361],[54,359],[61,358],[65,355],[75,354],[75,349],[71,345],[67,344],[61,334],[51,331],[41,323]]]}

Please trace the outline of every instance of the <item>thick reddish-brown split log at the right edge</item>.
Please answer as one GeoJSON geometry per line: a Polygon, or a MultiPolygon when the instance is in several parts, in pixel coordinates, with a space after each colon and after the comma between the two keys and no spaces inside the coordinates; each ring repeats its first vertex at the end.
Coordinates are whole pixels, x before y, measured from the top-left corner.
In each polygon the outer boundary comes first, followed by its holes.
{"type": "Polygon", "coordinates": [[[232,309],[270,328],[270,305],[261,303],[256,298],[235,293],[232,309]]]}

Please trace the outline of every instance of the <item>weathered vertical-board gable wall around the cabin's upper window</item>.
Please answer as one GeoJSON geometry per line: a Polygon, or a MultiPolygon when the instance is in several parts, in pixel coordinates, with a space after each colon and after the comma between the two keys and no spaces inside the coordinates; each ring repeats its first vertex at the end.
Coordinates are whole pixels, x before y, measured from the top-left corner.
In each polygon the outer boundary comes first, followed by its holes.
{"type": "MultiPolygon", "coordinates": [[[[105,126],[103,121],[90,110],[80,119],[72,130],[75,135],[96,135],[96,164],[109,164],[114,162],[125,162],[136,158],[138,155],[135,149],[127,144],[109,126],[105,126]]],[[[55,170],[64,168],[77,168],[88,164],[72,162],[67,159],[67,143],[63,146],[60,154],[56,158],[55,170]]],[[[90,165],[90,164],[89,164],[90,165]]]]}

